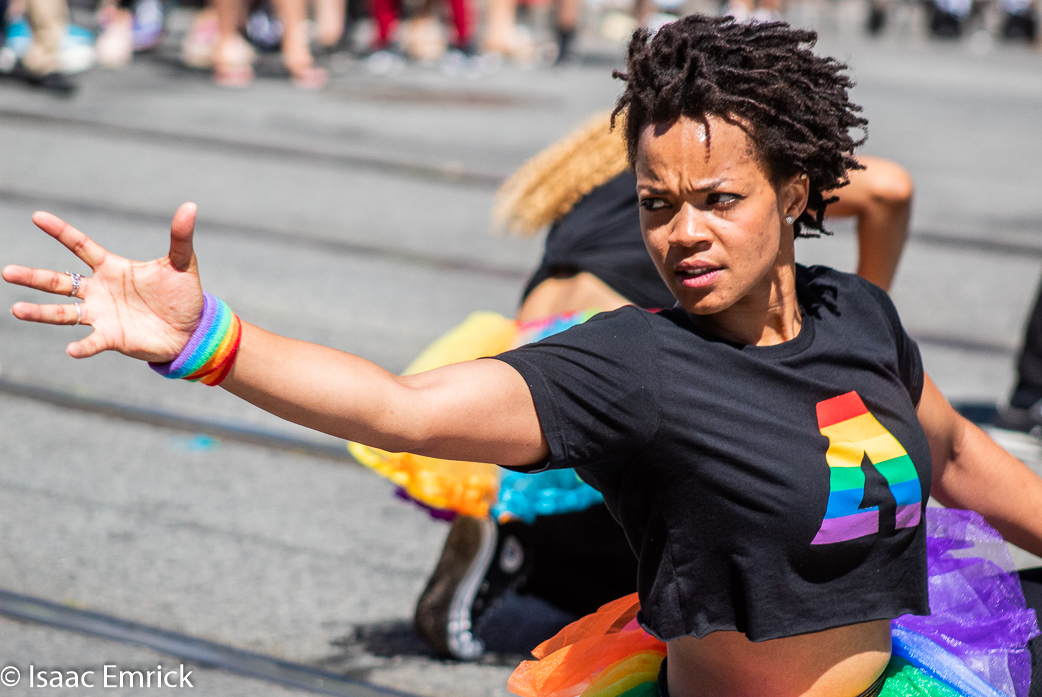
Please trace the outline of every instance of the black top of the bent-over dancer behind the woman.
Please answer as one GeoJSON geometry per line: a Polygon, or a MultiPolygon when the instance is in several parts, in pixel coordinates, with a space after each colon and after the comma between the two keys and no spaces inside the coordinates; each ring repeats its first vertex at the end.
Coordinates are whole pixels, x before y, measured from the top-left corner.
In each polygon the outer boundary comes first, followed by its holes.
{"type": "Polygon", "coordinates": [[[638,307],[676,302],[641,237],[637,179],[628,171],[579,199],[546,235],[543,260],[522,300],[547,278],[592,273],[638,307]]]}

